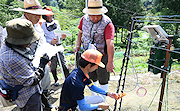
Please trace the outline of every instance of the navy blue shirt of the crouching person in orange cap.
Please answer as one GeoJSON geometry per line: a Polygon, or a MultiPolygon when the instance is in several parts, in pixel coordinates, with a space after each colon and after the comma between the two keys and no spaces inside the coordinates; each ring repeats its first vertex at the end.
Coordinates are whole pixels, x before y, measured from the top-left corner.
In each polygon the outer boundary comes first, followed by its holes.
{"type": "Polygon", "coordinates": [[[74,69],[66,78],[60,97],[60,106],[73,108],[77,106],[76,100],[84,98],[85,85],[91,81],[85,76],[80,68],[74,69]]]}

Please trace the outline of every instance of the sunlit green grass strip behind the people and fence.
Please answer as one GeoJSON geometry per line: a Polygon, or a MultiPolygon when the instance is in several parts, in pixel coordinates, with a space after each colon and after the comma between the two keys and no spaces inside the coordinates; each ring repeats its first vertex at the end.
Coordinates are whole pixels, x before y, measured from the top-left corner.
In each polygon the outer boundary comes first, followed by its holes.
{"type": "MultiPolygon", "coordinates": [[[[64,53],[73,52],[73,47],[66,47],[64,53]]],[[[115,72],[116,75],[121,72],[123,59],[124,59],[124,49],[116,48],[116,51],[114,53],[114,65],[115,65],[115,72]]],[[[71,55],[65,56],[67,65],[70,67],[70,72],[74,69],[75,64],[75,54],[72,53],[71,55]]],[[[134,51],[133,56],[130,56],[130,59],[128,61],[128,73],[130,74],[133,71],[136,71],[137,73],[146,73],[148,72],[148,59],[149,59],[149,51],[134,51]]],[[[126,66],[127,59],[125,58],[124,67],[126,66]]],[[[58,69],[60,67],[58,66],[58,69]]],[[[175,61],[172,63],[171,70],[178,70],[180,69],[180,63],[175,61]]],[[[114,74],[111,73],[113,76],[114,74]]],[[[62,74],[58,74],[59,77],[62,77],[62,74]]]]}

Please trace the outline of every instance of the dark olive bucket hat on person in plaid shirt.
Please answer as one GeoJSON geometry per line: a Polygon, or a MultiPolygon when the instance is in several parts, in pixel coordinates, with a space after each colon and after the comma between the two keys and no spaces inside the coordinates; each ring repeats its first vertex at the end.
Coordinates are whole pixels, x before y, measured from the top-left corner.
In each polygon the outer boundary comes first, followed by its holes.
{"type": "Polygon", "coordinates": [[[39,40],[32,22],[26,19],[13,19],[6,22],[6,41],[14,45],[28,45],[39,40]]]}

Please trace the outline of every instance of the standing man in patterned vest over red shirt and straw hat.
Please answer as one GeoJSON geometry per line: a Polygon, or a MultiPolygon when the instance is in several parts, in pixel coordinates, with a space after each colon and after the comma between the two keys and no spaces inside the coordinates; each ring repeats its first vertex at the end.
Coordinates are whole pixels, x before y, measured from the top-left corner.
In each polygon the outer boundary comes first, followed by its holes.
{"type": "Polygon", "coordinates": [[[100,88],[108,91],[110,72],[115,75],[113,63],[115,28],[111,19],[104,14],[108,10],[103,6],[102,0],[88,0],[88,7],[84,8],[83,12],[86,15],[79,23],[77,45],[74,51],[77,52],[80,49],[82,41],[85,50],[95,48],[103,54],[102,62],[106,68],[99,67],[98,70],[89,73],[89,76],[94,84],[97,85],[99,81],[100,88]]]}

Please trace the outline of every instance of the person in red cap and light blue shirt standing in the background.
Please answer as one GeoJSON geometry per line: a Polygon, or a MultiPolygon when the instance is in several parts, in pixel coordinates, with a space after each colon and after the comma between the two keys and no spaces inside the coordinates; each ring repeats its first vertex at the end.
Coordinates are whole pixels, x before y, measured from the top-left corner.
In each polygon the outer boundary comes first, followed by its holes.
{"type": "MultiPolygon", "coordinates": [[[[46,42],[51,44],[51,45],[61,45],[61,41],[60,40],[64,40],[66,38],[65,34],[62,34],[61,36],[57,36],[54,32],[54,30],[61,30],[59,22],[57,20],[53,19],[54,13],[52,11],[51,8],[49,7],[44,7],[44,9],[51,11],[51,14],[48,15],[43,15],[42,18],[46,21],[42,23],[42,29],[44,30],[45,33],[45,37],[46,37],[46,42]]],[[[59,51],[58,54],[56,54],[55,56],[53,56],[51,58],[51,72],[52,75],[54,77],[54,85],[57,86],[59,85],[59,83],[57,83],[58,81],[58,77],[57,77],[57,63],[61,62],[59,64],[62,64],[62,69],[64,72],[64,76],[65,78],[69,75],[69,69],[66,65],[66,59],[64,56],[63,51],[59,51]],[[58,61],[58,57],[60,58],[60,61],[58,61]]],[[[61,65],[60,65],[61,66],[61,65]]]]}

